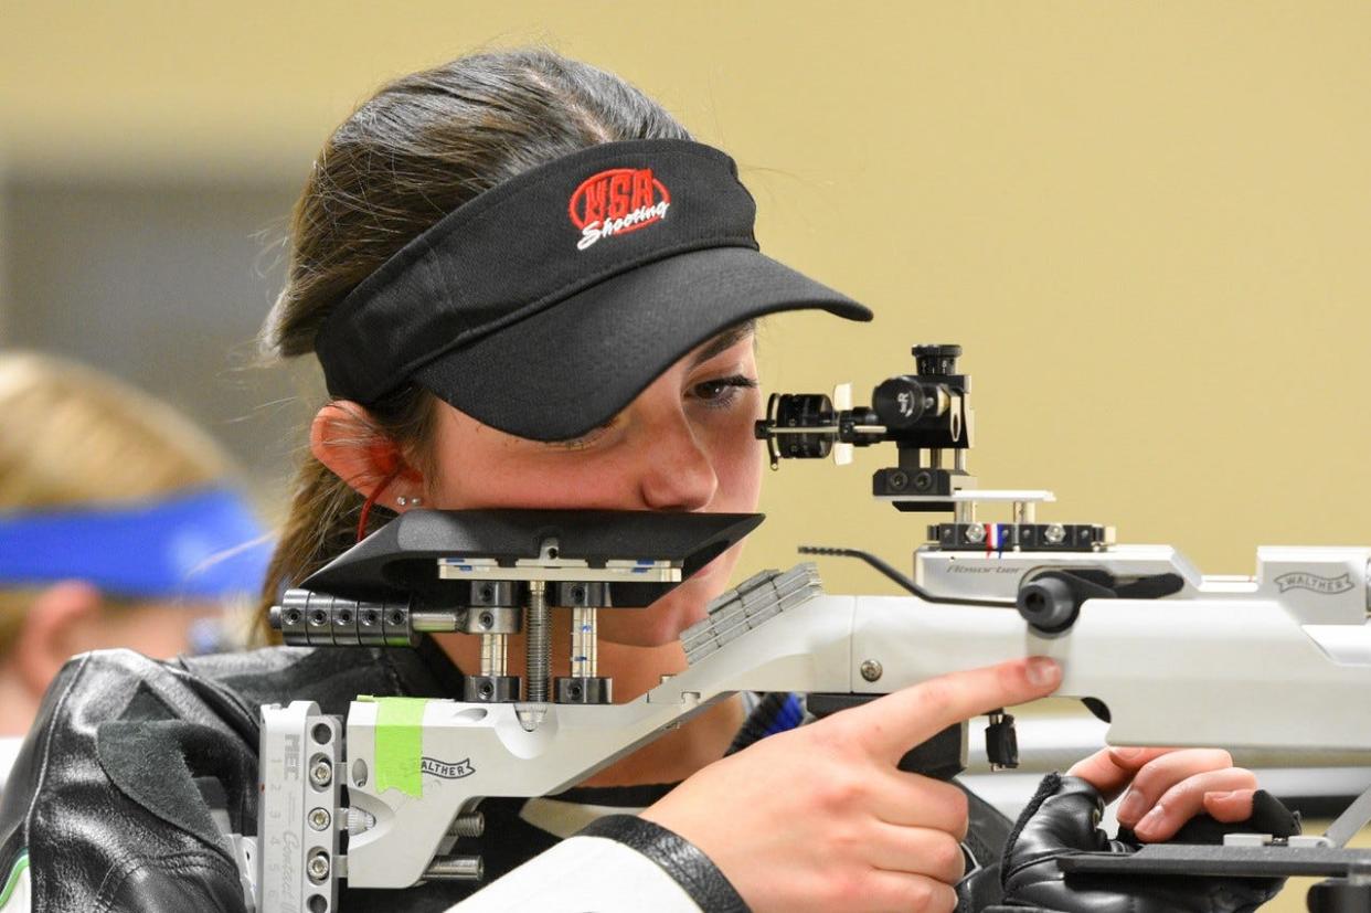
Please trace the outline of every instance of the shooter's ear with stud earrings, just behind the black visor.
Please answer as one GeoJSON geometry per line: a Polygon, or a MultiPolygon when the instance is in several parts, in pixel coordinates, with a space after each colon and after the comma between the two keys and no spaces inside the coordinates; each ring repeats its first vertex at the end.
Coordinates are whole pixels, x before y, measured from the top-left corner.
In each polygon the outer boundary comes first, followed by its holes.
{"type": "MultiPolygon", "coordinates": [[[[388,502],[424,494],[424,476],[399,444],[378,430],[372,414],[350,399],[326,404],[310,425],[310,452],[363,498],[388,502]]],[[[393,510],[393,502],[387,503],[393,510]]]]}

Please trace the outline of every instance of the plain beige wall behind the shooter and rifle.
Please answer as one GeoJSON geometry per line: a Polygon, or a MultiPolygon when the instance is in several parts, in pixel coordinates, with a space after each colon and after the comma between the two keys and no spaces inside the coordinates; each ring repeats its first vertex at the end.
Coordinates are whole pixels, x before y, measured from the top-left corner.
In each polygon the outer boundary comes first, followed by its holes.
{"type": "MultiPolygon", "coordinates": [[[[764,249],[876,310],[773,319],[769,389],[860,398],[910,344],[957,341],[972,469],[1056,491],[1045,515],[1224,573],[1261,543],[1371,541],[1367,4],[10,0],[0,18],[0,156],[55,177],[303,177],[384,80],[551,44],[732,152],[764,249]]],[[[924,521],[866,498],[893,458],[783,466],[744,563],[798,541],[906,563],[924,521]]],[[[887,588],[828,565],[834,587],[887,588]]]]}

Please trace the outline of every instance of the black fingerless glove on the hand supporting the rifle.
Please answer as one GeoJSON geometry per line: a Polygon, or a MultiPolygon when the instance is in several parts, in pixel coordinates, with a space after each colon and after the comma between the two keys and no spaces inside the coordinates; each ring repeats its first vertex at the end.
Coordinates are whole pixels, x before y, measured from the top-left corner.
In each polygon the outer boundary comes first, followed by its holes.
{"type": "MultiPolygon", "coordinates": [[[[1111,840],[1097,824],[1104,799],[1079,777],[1047,775],[1005,846],[1002,905],[984,913],[1249,913],[1265,903],[1285,879],[1235,877],[1068,877],[1057,860],[1075,853],[1134,853],[1141,842],[1128,828],[1111,840]]],[[[1224,833],[1290,836],[1300,818],[1268,792],[1253,798],[1252,817],[1220,824],[1191,818],[1171,843],[1222,843],[1224,833]]]]}

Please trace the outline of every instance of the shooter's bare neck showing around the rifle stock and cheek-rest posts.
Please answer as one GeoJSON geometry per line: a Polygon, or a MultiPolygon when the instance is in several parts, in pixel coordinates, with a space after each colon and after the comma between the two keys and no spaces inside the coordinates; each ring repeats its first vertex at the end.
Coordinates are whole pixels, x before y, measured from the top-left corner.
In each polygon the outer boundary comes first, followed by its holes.
{"type": "MultiPolygon", "coordinates": [[[[553,674],[570,672],[570,613],[554,609],[553,674]]],[[[439,646],[452,662],[466,673],[481,665],[481,642],[473,635],[435,635],[439,646]]],[[[686,669],[686,653],[680,642],[659,647],[633,647],[600,640],[599,674],[614,680],[614,702],[633,701],[661,683],[665,674],[686,669]]],[[[509,639],[509,674],[526,672],[525,640],[522,635],[509,639]]],[[[743,724],[743,705],[729,698],[705,710],[680,728],[673,729],[642,748],[628,754],[607,768],[587,777],[580,786],[632,786],[643,783],[676,783],[707,764],[724,757],[729,743],[743,724]]]]}

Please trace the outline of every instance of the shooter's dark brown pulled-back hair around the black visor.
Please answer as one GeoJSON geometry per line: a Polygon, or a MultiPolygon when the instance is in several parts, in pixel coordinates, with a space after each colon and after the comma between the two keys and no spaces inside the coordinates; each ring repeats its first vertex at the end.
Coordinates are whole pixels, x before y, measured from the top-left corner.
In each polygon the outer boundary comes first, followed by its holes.
{"type": "MultiPolygon", "coordinates": [[[[262,330],[269,355],[314,351],[329,311],[441,217],[539,165],[600,143],[690,138],[618,77],[546,49],[477,53],[384,86],[335,130],[295,204],[285,288],[262,330]]],[[[422,307],[422,303],[415,303],[422,307]]],[[[430,476],[436,399],[410,387],[358,415],[430,476]]],[[[378,483],[377,480],[354,480],[378,483]]],[[[355,541],[363,498],[306,455],[271,558],[265,607],[355,541]]],[[[369,526],[393,514],[377,504],[369,526]]]]}

